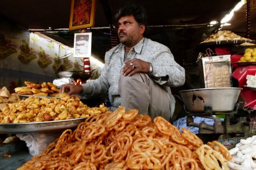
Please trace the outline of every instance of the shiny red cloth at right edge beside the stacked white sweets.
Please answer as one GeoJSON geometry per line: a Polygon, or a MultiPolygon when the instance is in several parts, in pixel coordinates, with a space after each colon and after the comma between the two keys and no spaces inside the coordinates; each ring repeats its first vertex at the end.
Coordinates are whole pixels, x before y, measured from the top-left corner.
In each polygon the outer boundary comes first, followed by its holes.
{"type": "Polygon", "coordinates": [[[243,66],[238,67],[234,73],[232,74],[232,77],[238,80],[238,87],[243,88],[240,95],[246,102],[245,107],[252,107],[256,110],[256,91],[253,91],[249,89],[248,87],[244,87],[246,85],[246,76],[247,75],[255,75],[256,73],[256,66],[250,65],[250,66],[243,66]]]}

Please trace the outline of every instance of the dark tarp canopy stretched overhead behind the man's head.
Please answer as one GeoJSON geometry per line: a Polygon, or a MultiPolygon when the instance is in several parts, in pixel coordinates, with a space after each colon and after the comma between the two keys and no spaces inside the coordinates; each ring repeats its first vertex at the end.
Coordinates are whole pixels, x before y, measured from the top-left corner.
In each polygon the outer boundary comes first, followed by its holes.
{"type": "MultiPolygon", "coordinates": [[[[117,9],[142,5],[149,25],[199,24],[219,21],[239,0],[97,0],[95,27],[109,26],[117,9]],[[104,13],[108,13],[108,19],[104,13]]],[[[71,0],[1,0],[0,13],[29,29],[68,28],[71,0]]]]}

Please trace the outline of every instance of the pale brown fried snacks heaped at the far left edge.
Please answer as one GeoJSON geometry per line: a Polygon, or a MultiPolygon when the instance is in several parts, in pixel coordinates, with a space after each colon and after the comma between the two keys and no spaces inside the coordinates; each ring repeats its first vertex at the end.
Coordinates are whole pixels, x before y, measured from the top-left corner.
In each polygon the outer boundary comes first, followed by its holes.
{"type": "Polygon", "coordinates": [[[0,112],[5,106],[8,106],[9,103],[17,103],[20,101],[20,97],[17,94],[10,94],[6,87],[3,87],[0,90],[0,112]]]}

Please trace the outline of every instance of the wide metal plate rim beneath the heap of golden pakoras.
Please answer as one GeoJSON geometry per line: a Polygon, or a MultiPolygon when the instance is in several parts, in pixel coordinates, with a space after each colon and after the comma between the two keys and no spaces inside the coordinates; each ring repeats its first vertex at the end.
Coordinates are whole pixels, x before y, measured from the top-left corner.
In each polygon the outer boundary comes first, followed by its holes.
{"type": "Polygon", "coordinates": [[[52,131],[61,131],[64,129],[76,128],[86,118],[48,121],[48,122],[30,122],[30,123],[0,123],[0,134],[16,133],[46,133],[52,131]]]}

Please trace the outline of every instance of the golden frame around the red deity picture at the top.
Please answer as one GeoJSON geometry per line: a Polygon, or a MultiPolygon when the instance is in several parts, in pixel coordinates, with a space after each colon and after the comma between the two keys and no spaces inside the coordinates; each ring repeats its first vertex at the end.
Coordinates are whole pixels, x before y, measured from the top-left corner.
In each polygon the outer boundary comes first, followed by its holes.
{"type": "Polygon", "coordinates": [[[75,0],[71,0],[71,9],[70,9],[70,17],[69,17],[69,30],[78,30],[78,29],[90,28],[90,27],[94,26],[96,0],[92,0],[92,10],[91,10],[90,23],[85,24],[85,25],[79,25],[79,26],[72,26],[73,12],[74,12],[74,1],[75,0]]]}

